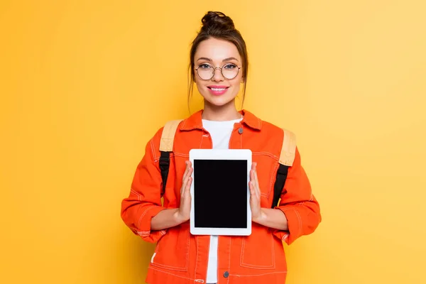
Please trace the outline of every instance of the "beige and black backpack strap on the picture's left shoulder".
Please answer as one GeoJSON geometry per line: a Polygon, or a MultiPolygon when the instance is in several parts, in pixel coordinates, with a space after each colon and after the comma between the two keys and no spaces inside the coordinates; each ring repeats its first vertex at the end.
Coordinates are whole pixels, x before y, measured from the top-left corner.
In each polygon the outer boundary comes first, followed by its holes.
{"type": "Polygon", "coordinates": [[[172,120],[165,123],[163,133],[160,139],[160,171],[161,180],[163,180],[163,187],[161,189],[161,196],[165,192],[165,184],[167,183],[168,170],[170,167],[170,152],[173,152],[173,141],[175,140],[175,133],[178,129],[182,119],[172,120]]]}

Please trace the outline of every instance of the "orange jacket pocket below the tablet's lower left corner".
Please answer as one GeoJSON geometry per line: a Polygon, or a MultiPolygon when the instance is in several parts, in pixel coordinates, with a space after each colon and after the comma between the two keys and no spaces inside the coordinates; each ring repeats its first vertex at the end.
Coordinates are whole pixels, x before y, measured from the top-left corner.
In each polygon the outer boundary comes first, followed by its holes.
{"type": "Polygon", "coordinates": [[[181,224],[169,228],[158,241],[151,265],[173,271],[187,271],[189,253],[190,226],[181,224]]]}

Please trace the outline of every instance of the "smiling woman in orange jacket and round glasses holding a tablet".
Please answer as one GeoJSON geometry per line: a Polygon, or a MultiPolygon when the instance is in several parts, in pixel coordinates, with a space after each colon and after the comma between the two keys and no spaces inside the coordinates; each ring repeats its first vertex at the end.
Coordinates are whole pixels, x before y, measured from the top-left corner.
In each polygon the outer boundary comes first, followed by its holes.
{"type": "Polygon", "coordinates": [[[249,111],[237,111],[235,98],[241,84],[245,94],[247,75],[246,44],[233,21],[224,13],[208,12],[190,51],[190,86],[197,84],[204,108],[178,126],[164,194],[159,165],[162,128],[147,143],[130,195],[122,202],[126,225],[143,240],[157,242],[147,283],[285,283],[282,241],[291,244],[311,234],[321,221],[297,148],[280,204],[271,206],[285,132],[249,111]],[[192,148],[253,152],[250,236],[190,234],[192,148]]]}

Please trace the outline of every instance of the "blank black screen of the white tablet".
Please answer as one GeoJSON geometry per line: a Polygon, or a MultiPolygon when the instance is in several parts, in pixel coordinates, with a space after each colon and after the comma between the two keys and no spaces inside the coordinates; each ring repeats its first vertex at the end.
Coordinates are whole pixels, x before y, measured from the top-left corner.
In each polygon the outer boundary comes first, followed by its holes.
{"type": "Polygon", "coordinates": [[[194,224],[247,227],[247,160],[194,160],[194,224]]]}

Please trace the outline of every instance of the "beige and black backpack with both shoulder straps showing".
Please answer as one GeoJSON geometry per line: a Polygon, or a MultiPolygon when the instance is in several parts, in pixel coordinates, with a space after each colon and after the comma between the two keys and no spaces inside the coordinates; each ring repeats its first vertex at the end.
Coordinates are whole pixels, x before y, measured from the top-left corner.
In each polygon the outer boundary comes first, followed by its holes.
{"type": "MultiPolygon", "coordinates": [[[[173,140],[175,138],[176,130],[180,124],[180,120],[168,121],[161,135],[160,140],[160,172],[161,179],[163,180],[163,188],[161,190],[161,196],[165,192],[165,184],[168,178],[168,171],[170,165],[170,153],[173,152],[173,140]]],[[[278,206],[280,196],[283,191],[285,180],[287,179],[288,168],[293,165],[296,155],[296,137],[291,131],[284,131],[283,146],[281,148],[280,158],[278,160],[279,168],[275,178],[275,184],[273,186],[273,202],[272,207],[278,206]]]]}

